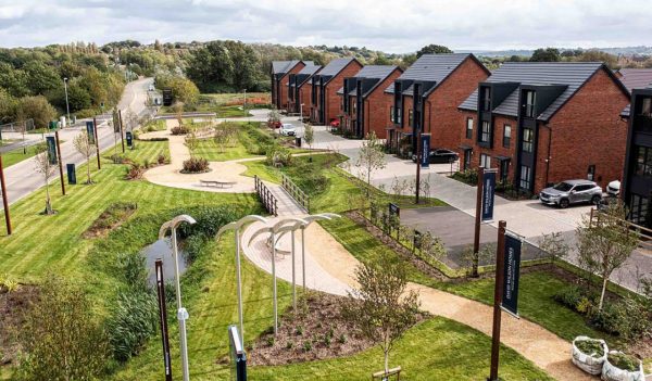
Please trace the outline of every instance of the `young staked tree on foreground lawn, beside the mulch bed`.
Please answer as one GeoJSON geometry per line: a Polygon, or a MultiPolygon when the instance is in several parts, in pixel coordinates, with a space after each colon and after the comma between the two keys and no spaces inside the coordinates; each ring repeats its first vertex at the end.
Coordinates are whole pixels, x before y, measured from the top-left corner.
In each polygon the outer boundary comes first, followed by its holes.
{"type": "Polygon", "coordinates": [[[360,265],[355,279],[360,288],[349,293],[343,317],[363,336],[380,344],[387,373],[393,343],[417,321],[418,294],[405,292],[408,271],[401,262],[381,258],[360,265]]]}

